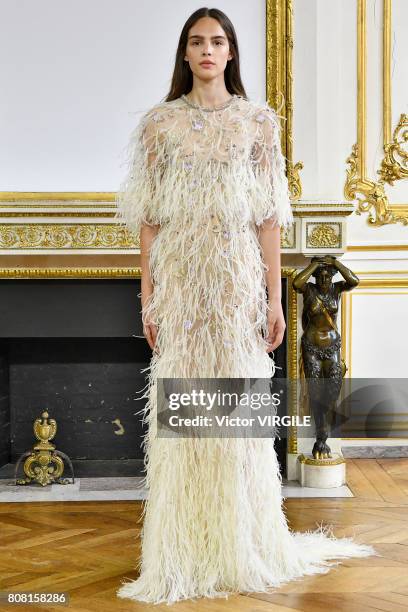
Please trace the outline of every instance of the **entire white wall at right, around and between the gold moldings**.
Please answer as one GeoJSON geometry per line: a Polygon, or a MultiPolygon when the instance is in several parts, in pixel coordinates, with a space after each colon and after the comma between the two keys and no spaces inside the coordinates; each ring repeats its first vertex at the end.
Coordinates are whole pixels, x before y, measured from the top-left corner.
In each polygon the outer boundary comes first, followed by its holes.
{"type": "MultiPolygon", "coordinates": [[[[408,112],[408,2],[392,3],[392,123],[408,112]]],[[[382,2],[367,0],[367,174],[383,158],[382,2]]],[[[303,199],[344,200],[346,159],[357,142],[357,0],[294,2],[294,161],[303,199]]],[[[408,203],[408,181],[386,185],[393,204],[408,203]]],[[[408,243],[401,224],[373,228],[368,215],[349,219],[351,244],[408,243]]]]}

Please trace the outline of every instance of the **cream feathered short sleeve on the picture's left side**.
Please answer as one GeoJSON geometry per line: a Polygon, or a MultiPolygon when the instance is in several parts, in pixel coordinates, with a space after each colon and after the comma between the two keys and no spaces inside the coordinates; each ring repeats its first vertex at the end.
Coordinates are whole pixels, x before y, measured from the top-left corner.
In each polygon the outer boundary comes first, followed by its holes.
{"type": "Polygon", "coordinates": [[[160,224],[160,184],[166,165],[160,113],[148,111],[130,135],[126,176],[116,193],[115,219],[137,238],[143,223],[160,224]]]}

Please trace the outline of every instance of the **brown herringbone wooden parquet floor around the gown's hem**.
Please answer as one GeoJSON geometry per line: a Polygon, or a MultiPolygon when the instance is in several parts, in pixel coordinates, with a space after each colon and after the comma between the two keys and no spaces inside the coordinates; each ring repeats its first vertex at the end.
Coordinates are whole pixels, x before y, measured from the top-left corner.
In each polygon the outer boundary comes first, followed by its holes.
{"type": "Polygon", "coordinates": [[[408,610],[408,458],[348,459],[354,498],[288,499],[295,530],[316,522],[337,536],[357,535],[381,557],[344,561],[324,575],[275,593],[179,602],[171,607],[119,599],[137,577],[141,502],[0,504],[0,591],[66,591],[70,605],[1,605],[0,612],[320,612],[408,610]]]}

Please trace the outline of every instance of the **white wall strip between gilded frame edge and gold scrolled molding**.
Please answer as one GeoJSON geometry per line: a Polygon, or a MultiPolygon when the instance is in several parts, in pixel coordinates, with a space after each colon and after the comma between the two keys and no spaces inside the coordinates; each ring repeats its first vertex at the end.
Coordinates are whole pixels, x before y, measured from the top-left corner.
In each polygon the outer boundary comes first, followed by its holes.
{"type": "Polygon", "coordinates": [[[303,199],[343,200],[356,139],[356,0],[294,2],[294,161],[303,199]]]}

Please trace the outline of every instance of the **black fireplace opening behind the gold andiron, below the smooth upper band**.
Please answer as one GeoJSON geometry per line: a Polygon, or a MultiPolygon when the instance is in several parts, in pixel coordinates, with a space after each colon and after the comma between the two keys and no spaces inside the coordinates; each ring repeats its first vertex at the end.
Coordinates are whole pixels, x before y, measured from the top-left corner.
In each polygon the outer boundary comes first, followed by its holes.
{"type": "Polygon", "coordinates": [[[0,477],[13,477],[33,447],[33,423],[44,410],[57,422],[52,443],[76,476],[142,475],[145,425],[135,413],[145,401],[137,396],[150,353],[137,338],[3,340],[0,477]]]}

